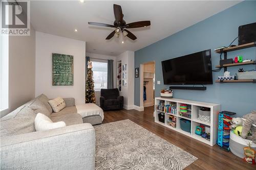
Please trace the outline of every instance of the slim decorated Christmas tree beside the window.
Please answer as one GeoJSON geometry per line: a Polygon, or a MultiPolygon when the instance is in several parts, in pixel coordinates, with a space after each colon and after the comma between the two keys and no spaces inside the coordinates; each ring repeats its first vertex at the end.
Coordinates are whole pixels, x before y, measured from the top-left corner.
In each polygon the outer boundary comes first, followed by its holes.
{"type": "Polygon", "coordinates": [[[88,71],[86,77],[86,103],[95,103],[94,81],[92,62],[88,62],[88,71]]]}

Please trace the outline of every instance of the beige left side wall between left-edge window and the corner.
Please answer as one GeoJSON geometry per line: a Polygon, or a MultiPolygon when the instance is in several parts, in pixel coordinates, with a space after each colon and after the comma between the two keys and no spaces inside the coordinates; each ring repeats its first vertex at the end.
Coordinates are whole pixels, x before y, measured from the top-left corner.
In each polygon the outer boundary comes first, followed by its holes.
{"type": "Polygon", "coordinates": [[[30,36],[9,36],[9,108],[1,117],[35,96],[35,30],[30,36]]]}

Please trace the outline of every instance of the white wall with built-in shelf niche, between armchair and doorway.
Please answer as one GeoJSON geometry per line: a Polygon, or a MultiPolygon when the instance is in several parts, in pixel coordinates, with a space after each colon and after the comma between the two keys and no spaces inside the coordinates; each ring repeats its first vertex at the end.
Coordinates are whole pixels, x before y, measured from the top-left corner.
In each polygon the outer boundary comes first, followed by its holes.
{"type": "Polygon", "coordinates": [[[134,109],[134,52],[126,51],[117,56],[116,61],[122,60],[122,65],[126,66],[127,72],[127,86],[122,86],[120,95],[124,98],[123,108],[130,110],[134,109]]]}

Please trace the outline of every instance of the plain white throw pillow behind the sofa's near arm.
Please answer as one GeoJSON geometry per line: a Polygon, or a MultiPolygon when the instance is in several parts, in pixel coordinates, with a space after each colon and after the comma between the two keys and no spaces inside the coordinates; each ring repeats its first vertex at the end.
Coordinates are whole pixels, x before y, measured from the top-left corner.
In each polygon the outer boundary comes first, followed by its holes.
{"type": "Polygon", "coordinates": [[[53,123],[52,120],[42,113],[37,113],[35,116],[35,130],[44,131],[49,129],[56,129],[65,127],[65,122],[56,122],[53,123]]]}

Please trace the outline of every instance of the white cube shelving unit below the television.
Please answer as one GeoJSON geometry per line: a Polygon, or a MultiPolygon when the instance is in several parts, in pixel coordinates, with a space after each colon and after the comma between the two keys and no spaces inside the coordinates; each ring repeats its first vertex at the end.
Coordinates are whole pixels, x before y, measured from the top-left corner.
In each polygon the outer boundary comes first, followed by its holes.
{"type": "Polygon", "coordinates": [[[196,101],[189,101],[189,100],[182,100],[182,99],[165,99],[165,98],[156,98],[155,99],[155,105],[158,105],[160,101],[164,102],[164,105],[167,105],[169,102],[173,102],[176,103],[177,105],[177,114],[171,114],[171,113],[166,113],[164,111],[160,111],[156,109],[155,106],[155,122],[165,126],[169,129],[178,131],[184,135],[187,135],[189,137],[192,137],[194,139],[197,139],[199,141],[202,141],[206,144],[209,144],[211,146],[216,144],[217,141],[217,136],[218,136],[218,114],[221,111],[221,105],[220,104],[214,104],[214,103],[205,103],[205,102],[196,102],[196,101]],[[191,105],[191,118],[187,118],[187,117],[183,117],[179,114],[180,111],[180,104],[187,104],[187,105],[191,105]],[[210,123],[207,122],[203,122],[201,120],[198,119],[198,113],[199,113],[199,108],[200,107],[207,107],[210,108],[210,123]],[[164,123],[159,122],[158,119],[158,114],[159,113],[164,113],[165,115],[165,119],[164,119],[164,123]],[[167,124],[167,119],[169,117],[169,115],[174,115],[176,116],[176,128],[170,126],[167,124]],[[191,121],[191,132],[186,132],[183,131],[180,128],[180,119],[184,118],[187,120],[191,121]],[[203,125],[206,127],[207,131],[209,131],[210,133],[210,140],[207,140],[199,135],[197,135],[195,133],[196,127],[199,125],[203,125]]]}

